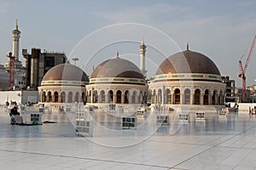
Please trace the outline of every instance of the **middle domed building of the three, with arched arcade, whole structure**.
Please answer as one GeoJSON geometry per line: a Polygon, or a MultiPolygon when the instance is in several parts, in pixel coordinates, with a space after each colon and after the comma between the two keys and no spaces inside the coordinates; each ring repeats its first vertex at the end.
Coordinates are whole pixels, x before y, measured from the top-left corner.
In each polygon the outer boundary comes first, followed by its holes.
{"type": "Polygon", "coordinates": [[[146,102],[147,86],[142,71],[131,61],[116,58],[103,61],[90,76],[86,86],[88,105],[119,106],[146,102]]]}

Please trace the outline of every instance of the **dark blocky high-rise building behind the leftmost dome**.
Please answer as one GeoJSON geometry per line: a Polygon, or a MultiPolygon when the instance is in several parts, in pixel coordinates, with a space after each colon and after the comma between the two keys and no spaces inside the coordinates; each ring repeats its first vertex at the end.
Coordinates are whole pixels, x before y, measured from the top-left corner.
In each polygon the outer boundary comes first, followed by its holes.
{"type": "Polygon", "coordinates": [[[46,51],[41,53],[39,48],[32,48],[31,54],[28,54],[26,49],[22,49],[22,54],[26,59],[26,87],[33,89],[40,86],[49,69],[67,62],[66,54],[46,51]]]}

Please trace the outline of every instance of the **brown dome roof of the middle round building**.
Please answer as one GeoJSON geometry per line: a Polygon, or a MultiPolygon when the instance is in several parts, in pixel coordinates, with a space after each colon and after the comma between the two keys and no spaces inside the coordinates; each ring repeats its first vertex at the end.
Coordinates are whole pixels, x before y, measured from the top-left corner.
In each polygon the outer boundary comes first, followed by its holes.
{"type": "Polygon", "coordinates": [[[90,78],[100,77],[144,78],[137,65],[134,65],[131,61],[120,58],[108,59],[98,65],[92,72],[90,78]]]}

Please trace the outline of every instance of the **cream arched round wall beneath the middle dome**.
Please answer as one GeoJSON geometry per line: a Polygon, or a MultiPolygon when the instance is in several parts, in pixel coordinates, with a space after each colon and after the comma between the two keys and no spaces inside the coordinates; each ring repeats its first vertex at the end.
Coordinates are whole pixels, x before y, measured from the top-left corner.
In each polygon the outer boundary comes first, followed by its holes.
{"type": "Polygon", "coordinates": [[[146,103],[145,80],[127,77],[90,78],[86,86],[87,105],[109,103],[125,106],[146,103]]]}

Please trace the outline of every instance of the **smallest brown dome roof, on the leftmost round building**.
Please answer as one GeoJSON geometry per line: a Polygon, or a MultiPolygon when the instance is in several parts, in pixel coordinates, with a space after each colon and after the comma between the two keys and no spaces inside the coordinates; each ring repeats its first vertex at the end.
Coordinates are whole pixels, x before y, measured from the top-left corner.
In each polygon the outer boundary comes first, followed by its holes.
{"type": "Polygon", "coordinates": [[[44,75],[43,81],[66,80],[89,82],[87,75],[76,65],[55,65],[44,75]]]}

